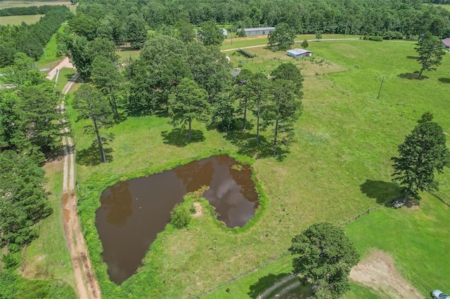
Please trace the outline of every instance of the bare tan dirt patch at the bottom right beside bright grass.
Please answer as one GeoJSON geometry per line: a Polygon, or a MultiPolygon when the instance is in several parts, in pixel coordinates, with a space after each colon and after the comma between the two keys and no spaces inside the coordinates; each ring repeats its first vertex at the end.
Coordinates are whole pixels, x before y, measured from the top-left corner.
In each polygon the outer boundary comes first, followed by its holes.
{"type": "Polygon", "coordinates": [[[394,260],[383,251],[372,251],[353,267],[349,279],[378,291],[383,298],[423,298],[394,267],[394,260]]]}

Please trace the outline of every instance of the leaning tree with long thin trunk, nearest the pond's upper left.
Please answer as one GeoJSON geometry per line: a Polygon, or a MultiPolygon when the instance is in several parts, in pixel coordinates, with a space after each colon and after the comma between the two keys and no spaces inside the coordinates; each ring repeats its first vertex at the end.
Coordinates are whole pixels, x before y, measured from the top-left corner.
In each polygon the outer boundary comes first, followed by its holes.
{"type": "Polygon", "coordinates": [[[111,109],[108,102],[98,89],[87,84],[82,85],[76,92],[73,100],[73,107],[79,113],[79,118],[91,119],[94,131],[97,136],[98,149],[100,150],[101,161],[106,163],[105,151],[103,150],[103,140],[98,131],[102,125],[108,124],[108,116],[111,109]]]}

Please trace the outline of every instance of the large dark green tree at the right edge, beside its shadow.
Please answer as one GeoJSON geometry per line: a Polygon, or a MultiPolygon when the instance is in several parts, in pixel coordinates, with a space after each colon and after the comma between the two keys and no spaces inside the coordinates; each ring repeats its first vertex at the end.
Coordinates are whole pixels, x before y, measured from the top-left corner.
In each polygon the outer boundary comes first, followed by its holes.
{"type": "Polygon", "coordinates": [[[420,200],[419,191],[437,189],[435,171],[449,166],[450,153],[442,127],[431,121],[418,124],[399,145],[399,157],[392,157],[394,181],[405,187],[406,201],[411,195],[420,200]]]}

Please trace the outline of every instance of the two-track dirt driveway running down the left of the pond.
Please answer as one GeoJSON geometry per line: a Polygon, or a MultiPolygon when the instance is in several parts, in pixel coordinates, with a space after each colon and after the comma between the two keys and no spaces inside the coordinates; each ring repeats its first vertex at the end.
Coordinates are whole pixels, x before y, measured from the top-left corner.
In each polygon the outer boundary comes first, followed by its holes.
{"type": "MultiPolygon", "coordinates": [[[[60,64],[61,65],[61,64],[60,64]]],[[[59,65],[58,65],[59,66],[59,65]]],[[[70,88],[77,80],[77,74],[70,79],[63,88],[63,94],[68,93],[70,88]]],[[[64,101],[60,104],[61,113],[64,112],[64,101]]],[[[65,124],[65,118],[61,119],[65,124]]],[[[75,197],[75,157],[72,138],[65,134],[69,132],[68,127],[63,128],[64,145],[64,171],[63,171],[63,216],[65,240],[68,244],[70,258],[75,275],[75,284],[77,285],[77,295],[81,299],[101,298],[100,288],[94,277],[91,268],[91,261],[87,255],[84,245],[83,234],[79,227],[77,214],[77,197],[75,197]]]]}

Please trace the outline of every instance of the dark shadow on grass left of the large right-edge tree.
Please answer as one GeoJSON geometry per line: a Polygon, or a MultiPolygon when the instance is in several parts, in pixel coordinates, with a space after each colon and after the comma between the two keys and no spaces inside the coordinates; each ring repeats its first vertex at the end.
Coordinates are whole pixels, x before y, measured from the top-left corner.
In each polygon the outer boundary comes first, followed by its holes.
{"type": "Polygon", "coordinates": [[[367,197],[376,199],[377,204],[384,204],[385,206],[390,206],[392,200],[401,194],[401,188],[393,182],[366,180],[359,187],[367,197]]]}

